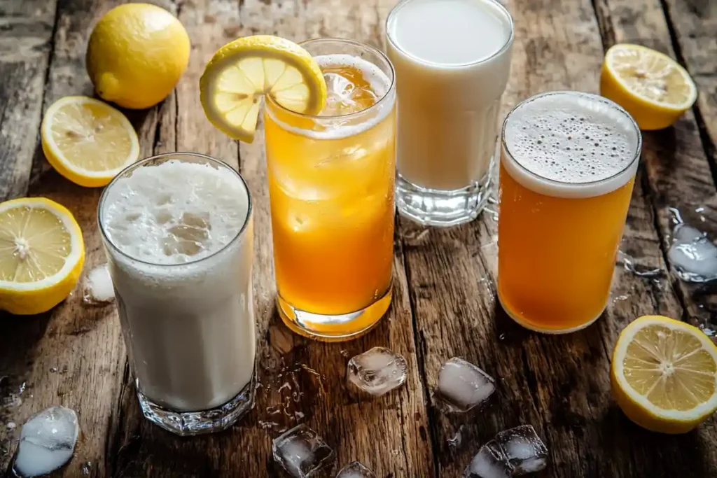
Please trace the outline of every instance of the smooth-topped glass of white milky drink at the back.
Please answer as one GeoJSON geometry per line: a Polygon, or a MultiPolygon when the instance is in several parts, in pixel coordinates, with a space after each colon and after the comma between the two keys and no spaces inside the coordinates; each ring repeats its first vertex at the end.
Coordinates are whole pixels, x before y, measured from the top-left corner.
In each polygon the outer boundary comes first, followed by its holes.
{"type": "Polygon", "coordinates": [[[399,213],[432,226],[472,221],[494,181],[511,15],[494,0],[404,0],[386,37],[397,79],[399,213]]]}

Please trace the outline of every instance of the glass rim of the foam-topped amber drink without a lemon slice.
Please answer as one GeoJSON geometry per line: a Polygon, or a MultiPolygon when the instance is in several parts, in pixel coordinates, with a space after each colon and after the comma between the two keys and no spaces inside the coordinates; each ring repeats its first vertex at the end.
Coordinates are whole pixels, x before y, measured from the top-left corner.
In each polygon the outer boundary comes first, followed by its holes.
{"type": "Polygon", "coordinates": [[[508,112],[508,115],[505,115],[505,120],[503,120],[503,127],[500,128],[500,145],[503,147],[503,150],[505,151],[508,156],[511,157],[511,161],[513,161],[513,164],[516,164],[521,171],[524,171],[528,173],[529,176],[538,179],[539,181],[547,181],[549,184],[554,184],[556,186],[574,186],[574,188],[584,188],[584,187],[591,187],[591,186],[597,186],[601,183],[607,183],[609,181],[612,181],[614,178],[617,178],[617,176],[620,176],[624,174],[626,171],[629,171],[632,166],[635,165],[635,162],[640,159],[640,156],[642,154],[642,133],[640,132],[640,126],[637,125],[637,122],[635,121],[635,118],[632,118],[632,115],[630,113],[627,113],[627,110],[623,108],[622,106],[618,105],[616,102],[607,99],[604,96],[596,95],[595,93],[589,93],[589,92],[583,92],[583,91],[576,91],[576,90],[554,90],[554,91],[546,91],[542,93],[538,93],[537,95],[533,95],[531,97],[526,98],[525,100],[519,102],[517,105],[511,108],[511,110],[508,112]],[[518,110],[519,107],[528,104],[529,102],[533,102],[534,100],[538,100],[539,98],[551,96],[551,95],[569,95],[569,96],[579,96],[579,97],[585,97],[589,98],[590,100],[597,100],[599,102],[602,102],[602,104],[607,105],[608,107],[612,108],[612,110],[617,111],[618,113],[621,113],[627,120],[630,121],[630,124],[632,125],[632,131],[637,136],[637,144],[635,145],[635,153],[633,153],[632,159],[629,163],[625,166],[625,168],[622,168],[620,171],[617,171],[617,173],[612,174],[611,176],[608,176],[607,178],[597,179],[595,181],[587,181],[584,183],[575,183],[575,182],[569,182],[569,181],[557,181],[556,179],[546,178],[545,176],[541,176],[540,174],[531,171],[530,169],[523,166],[520,161],[516,159],[515,156],[513,156],[513,153],[511,153],[511,149],[508,148],[508,143],[505,141],[505,128],[508,125],[508,121],[511,119],[511,115],[518,110]]]}

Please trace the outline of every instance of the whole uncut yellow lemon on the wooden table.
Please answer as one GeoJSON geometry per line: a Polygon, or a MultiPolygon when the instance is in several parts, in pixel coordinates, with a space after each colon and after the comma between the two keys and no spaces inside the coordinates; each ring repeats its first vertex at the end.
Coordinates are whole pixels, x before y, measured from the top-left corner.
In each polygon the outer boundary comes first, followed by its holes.
{"type": "Polygon", "coordinates": [[[87,73],[103,100],[143,109],[171,93],[189,62],[189,35],[155,5],[124,4],[108,11],[87,43],[87,73]]]}

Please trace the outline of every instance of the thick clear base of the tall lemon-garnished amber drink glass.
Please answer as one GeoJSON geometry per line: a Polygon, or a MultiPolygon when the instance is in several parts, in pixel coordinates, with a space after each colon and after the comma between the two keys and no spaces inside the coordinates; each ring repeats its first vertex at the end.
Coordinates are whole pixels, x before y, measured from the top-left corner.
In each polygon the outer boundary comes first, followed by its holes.
{"type": "Polygon", "coordinates": [[[371,305],[339,315],[315,314],[297,309],[281,295],[277,295],[276,302],[281,320],[293,332],[323,342],[343,342],[361,337],[379,323],[391,305],[391,291],[392,287],[389,286],[386,293],[371,305]]]}

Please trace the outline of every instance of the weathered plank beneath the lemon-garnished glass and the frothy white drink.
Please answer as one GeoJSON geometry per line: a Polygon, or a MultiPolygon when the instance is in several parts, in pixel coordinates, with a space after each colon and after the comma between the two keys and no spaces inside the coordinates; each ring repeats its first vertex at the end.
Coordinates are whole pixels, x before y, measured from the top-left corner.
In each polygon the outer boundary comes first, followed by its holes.
{"type": "MultiPolygon", "coordinates": [[[[244,34],[275,33],[301,40],[322,35],[379,43],[376,8],[356,1],[185,1],[179,18],[193,42],[189,69],[177,87],[176,136],[171,118],[161,113],[160,143],[174,139],[178,150],[196,150],[237,164],[250,184],[255,211],[255,305],[259,323],[260,381],[250,416],[217,436],[176,439],[139,418],[133,388],[125,376],[112,449],[115,477],[281,476],[271,458],[271,440],[282,429],[303,422],[337,452],[338,464],[360,459],[379,476],[427,476],[432,451],[427,437],[424,396],[417,374],[411,314],[400,251],[396,259],[394,306],[382,324],[352,343],[326,345],[291,334],[273,302],[269,198],[264,145],[237,143],[214,130],[204,118],[196,88],[204,64],[222,44],[244,34]],[[349,21],[343,21],[348,15],[349,21]],[[320,20],[320,21],[319,21],[320,20]],[[348,357],[374,345],[389,345],[409,362],[407,386],[376,401],[348,395],[344,374],[348,357]],[[288,386],[283,386],[284,384],[288,386]],[[377,432],[379,431],[380,432],[377,432]],[[377,452],[379,451],[379,452],[377,452]]],[[[338,467],[336,467],[338,469],[338,467]]],[[[334,471],[336,471],[334,469],[334,471]]]]}

